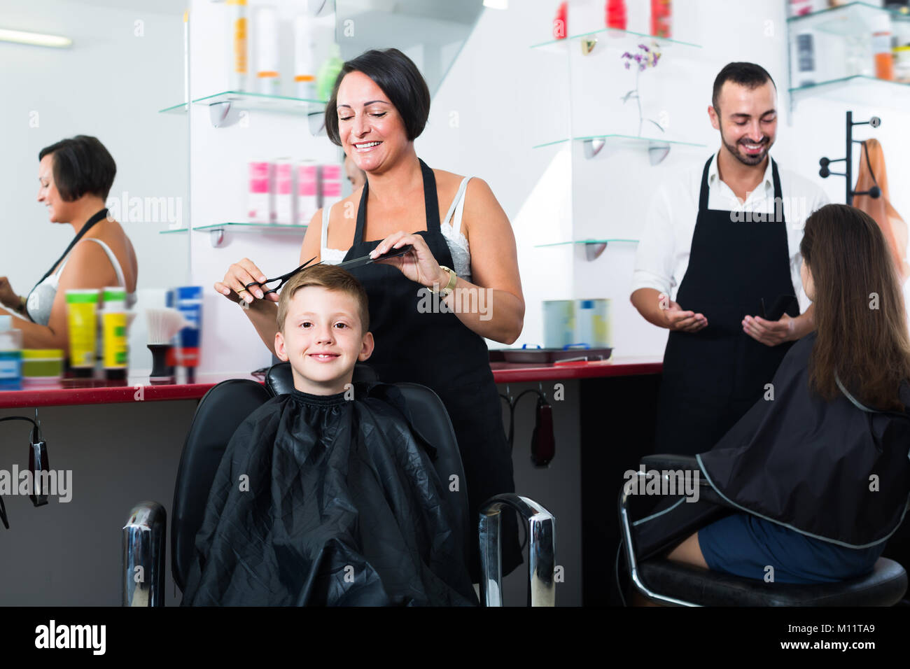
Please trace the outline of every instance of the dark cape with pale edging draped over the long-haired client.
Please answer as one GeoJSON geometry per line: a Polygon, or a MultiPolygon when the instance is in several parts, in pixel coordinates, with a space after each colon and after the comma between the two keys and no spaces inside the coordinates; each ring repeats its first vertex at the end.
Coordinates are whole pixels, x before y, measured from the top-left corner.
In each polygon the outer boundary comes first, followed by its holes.
{"type": "MultiPolygon", "coordinates": [[[[773,377],[773,400],[755,402],[711,451],[696,456],[698,475],[711,484],[704,499],[672,510],[682,497],[664,500],[654,510],[659,515],[636,524],[640,559],[737,510],[852,548],[895,532],[910,494],[910,409],[864,411],[844,392],[823,400],[809,388],[815,338],[812,332],[787,351],[773,377]]],[[[910,383],[899,393],[910,407],[910,383]]]]}

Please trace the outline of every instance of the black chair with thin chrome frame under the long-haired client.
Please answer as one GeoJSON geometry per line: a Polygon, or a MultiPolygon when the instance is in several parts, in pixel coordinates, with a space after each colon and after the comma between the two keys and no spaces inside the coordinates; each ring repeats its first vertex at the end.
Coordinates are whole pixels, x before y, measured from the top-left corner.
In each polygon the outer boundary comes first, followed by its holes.
{"type": "MultiPolygon", "coordinates": [[[[642,458],[642,464],[645,470],[699,469],[694,456],[687,455],[649,455],[642,458]]],[[[640,471],[638,475],[645,474],[640,471]]],[[[730,508],[703,477],[699,483],[700,499],[730,508]]],[[[675,606],[893,606],[906,592],[904,568],[887,558],[879,558],[872,573],[860,578],[813,585],[765,583],[663,558],[639,563],[632,542],[629,498],[623,485],[619,504],[623,552],[632,585],[652,602],[675,606]]],[[[680,539],[692,534],[694,529],[681,532],[680,539]]]]}

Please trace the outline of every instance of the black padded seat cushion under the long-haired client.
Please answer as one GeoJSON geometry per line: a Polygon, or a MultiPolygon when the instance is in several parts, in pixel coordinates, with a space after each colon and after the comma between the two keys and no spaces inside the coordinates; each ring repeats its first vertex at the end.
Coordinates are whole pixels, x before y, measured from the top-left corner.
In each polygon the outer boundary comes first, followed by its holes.
{"type": "Polygon", "coordinates": [[[907,589],[904,568],[887,558],[865,576],[811,585],[765,583],[663,559],[639,564],[639,573],[653,593],[702,606],[893,606],[907,589]]]}

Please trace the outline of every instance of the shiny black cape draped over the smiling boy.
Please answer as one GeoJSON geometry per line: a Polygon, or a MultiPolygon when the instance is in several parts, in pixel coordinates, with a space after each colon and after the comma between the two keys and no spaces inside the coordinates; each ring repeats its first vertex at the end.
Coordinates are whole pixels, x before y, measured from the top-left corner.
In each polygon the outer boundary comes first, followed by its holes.
{"type": "Polygon", "coordinates": [[[470,605],[435,450],[398,389],[297,390],[227,445],[184,605],[470,605]],[[430,455],[428,455],[428,452],[430,455]]]}

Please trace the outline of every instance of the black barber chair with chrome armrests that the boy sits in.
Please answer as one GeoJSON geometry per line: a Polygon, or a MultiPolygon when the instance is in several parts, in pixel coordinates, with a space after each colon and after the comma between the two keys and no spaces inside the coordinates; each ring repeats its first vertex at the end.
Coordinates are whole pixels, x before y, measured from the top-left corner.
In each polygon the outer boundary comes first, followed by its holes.
{"type": "MultiPolygon", "coordinates": [[[[377,380],[375,372],[364,364],[354,369],[357,381],[377,380]]],[[[232,379],[208,390],[199,401],[196,415],[184,443],[177,470],[174,505],[171,518],[171,569],[174,582],[183,590],[195,551],[196,534],[202,524],[208,492],[215,479],[218,463],[234,431],[248,415],[270,398],[293,388],[287,362],[268,370],[265,385],[254,380],[232,379]]],[[[439,396],[416,383],[396,383],[407,400],[417,429],[436,446],[434,462],[442,481],[452,473],[462,481],[460,491],[451,493],[456,532],[468,560],[470,525],[467,487],[461,456],[452,430],[449,414],[439,396]]],[[[500,513],[503,507],[519,512],[527,523],[529,549],[528,604],[552,606],[555,603],[554,542],[555,519],[539,504],[516,494],[497,495],[483,504],[480,513],[480,557],[483,574],[480,602],[501,606],[500,513]]],[[[140,502],[129,514],[123,528],[123,605],[163,606],[165,576],[164,507],[157,502],[140,502]]]]}

